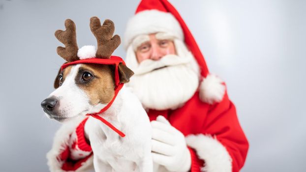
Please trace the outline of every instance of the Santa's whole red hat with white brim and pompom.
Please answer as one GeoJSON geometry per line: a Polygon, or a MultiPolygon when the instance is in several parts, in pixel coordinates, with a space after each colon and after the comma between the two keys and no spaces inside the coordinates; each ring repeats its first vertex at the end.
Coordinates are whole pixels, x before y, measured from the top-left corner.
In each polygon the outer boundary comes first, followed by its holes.
{"type": "MultiPolygon", "coordinates": [[[[124,34],[124,48],[127,49],[134,38],[142,34],[164,32],[182,40],[196,59],[203,81],[200,84],[200,99],[206,103],[220,102],[225,93],[224,83],[209,74],[204,56],[179,12],[167,0],[142,0],[136,14],[128,21],[124,34]]],[[[127,56],[126,62],[135,56],[127,56]]]]}

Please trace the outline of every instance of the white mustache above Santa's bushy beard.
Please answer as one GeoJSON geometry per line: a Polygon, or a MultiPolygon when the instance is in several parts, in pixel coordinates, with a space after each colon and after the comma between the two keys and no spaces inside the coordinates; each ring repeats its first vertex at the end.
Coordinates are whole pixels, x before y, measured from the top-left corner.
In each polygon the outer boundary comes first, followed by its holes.
{"type": "Polygon", "coordinates": [[[166,55],[159,60],[146,59],[142,61],[137,69],[134,70],[135,75],[143,75],[149,73],[155,69],[162,68],[165,66],[175,66],[187,64],[191,61],[190,56],[179,57],[177,55],[166,55]]]}

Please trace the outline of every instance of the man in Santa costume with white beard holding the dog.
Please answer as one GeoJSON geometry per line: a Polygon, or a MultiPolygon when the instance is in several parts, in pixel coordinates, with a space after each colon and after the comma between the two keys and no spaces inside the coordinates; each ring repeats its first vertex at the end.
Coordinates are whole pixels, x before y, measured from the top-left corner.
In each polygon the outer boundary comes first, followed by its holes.
{"type": "MultiPolygon", "coordinates": [[[[158,172],[238,172],[248,142],[224,83],[209,73],[203,55],[176,9],[166,0],[142,0],[124,35],[127,84],[153,128],[158,172]]],[[[48,153],[51,171],[83,172],[92,165],[86,123],[60,129],[48,153]]]]}

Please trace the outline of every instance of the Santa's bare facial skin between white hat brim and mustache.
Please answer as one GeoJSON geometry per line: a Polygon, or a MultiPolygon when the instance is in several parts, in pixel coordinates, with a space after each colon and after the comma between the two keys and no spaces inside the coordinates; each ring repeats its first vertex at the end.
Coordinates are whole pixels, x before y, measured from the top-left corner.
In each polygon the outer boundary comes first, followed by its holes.
{"type": "MultiPolygon", "coordinates": [[[[158,37],[158,35],[157,35],[158,37]]],[[[136,48],[138,63],[146,59],[159,60],[166,55],[175,55],[175,47],[172,40],[156,38],[156,34],[150,34],[149,40],[145,38],[143,43],[136,48]]]]}

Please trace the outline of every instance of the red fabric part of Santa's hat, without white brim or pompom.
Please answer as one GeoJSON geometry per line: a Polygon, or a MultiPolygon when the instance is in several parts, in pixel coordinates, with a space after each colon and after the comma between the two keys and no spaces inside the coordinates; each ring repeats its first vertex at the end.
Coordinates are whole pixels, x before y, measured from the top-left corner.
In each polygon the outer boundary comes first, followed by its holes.
{"type": "Polygon", "coordinates": [[[151,9],[156,9],[162,12],[170,12],[177,19],[184,32],[185,44],[188,47],[188,49],[191,51],[195,59],[197,60],[201,69],[201,75],[203,77],[206,77],[209,71],[206,62],[204,60],[204,56],[202,55],[201,50],[198,47],[198,44],[193,38],[190,30],[188,29],[187,25],[185,24],[179,12],[167,0],[141,0],[135,13],[151,9]]]}

